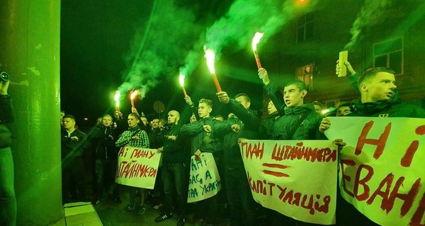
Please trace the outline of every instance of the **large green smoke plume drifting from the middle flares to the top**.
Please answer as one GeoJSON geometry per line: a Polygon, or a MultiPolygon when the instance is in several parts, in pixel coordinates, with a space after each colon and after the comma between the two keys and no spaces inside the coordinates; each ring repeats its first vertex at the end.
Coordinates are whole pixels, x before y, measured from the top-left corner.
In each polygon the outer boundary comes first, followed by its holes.
{"type": "MultiPolygon", "coordinates": [[[[327,1],[321,1],[323,6],[327,1]]],[[[261,43],[278,32],[285,23],[302,13],[317,8],[318,1],[309,1],[307,4],[298,4],[295,0],[236,0],[229,10],[213,23],[205,32],[205,42],[196,44],[186,57],[186,65],[181,73],[188,75],[196,69],[202,47],[212,49],[216,58],[220,58],[223,47],[231,47],[237,52],[251,46],[255,32],[264,32],[261,43]]],[[[204,40],[204,39],[200,39],[204,40]]]]}

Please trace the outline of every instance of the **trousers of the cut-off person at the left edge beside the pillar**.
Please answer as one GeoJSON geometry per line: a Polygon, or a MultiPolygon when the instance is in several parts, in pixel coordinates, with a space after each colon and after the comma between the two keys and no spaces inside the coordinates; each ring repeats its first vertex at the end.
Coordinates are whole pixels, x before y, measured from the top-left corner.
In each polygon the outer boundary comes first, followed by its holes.
{"type": "Polygon", "coordinates": [[[11,148],[0,148],[0,225],[16,225],[16,196],[11,148]]]}

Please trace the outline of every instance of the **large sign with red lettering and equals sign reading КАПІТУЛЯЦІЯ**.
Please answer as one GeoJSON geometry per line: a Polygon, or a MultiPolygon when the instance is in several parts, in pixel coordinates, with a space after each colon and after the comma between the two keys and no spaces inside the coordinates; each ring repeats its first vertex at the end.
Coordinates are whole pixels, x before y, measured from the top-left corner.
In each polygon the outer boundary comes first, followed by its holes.
{"type": "Polygon", "coordinates": [[[290,218],[335,223],[337,150],[331,141],[240,143],[254,200],[290,218]]]}

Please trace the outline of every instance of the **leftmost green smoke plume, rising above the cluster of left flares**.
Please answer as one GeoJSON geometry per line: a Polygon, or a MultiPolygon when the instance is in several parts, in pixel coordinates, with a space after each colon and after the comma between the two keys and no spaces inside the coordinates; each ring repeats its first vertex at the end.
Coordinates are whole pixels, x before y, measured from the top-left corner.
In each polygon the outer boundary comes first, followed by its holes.
{"type": "Polygon", "coordinates": [[[147,24],[138,28],[125,56],[125,81],[118,90],[125,95],[137,89],[140,98],[159,83],[159,76],[177,79],[176,67],[199,37],[194,13],[174,0],[155,0],[147,24]]]}

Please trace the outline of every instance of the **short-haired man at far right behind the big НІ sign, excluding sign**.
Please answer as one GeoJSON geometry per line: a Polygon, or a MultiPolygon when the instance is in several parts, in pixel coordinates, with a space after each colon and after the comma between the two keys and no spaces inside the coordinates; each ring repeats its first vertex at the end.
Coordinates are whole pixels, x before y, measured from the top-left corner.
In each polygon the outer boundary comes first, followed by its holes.
{"type": "MultiPolygon", "coordinates": [[[[424,109],[400,101],[396,88],[395,72],[392,69],[385,67],[368,69],[358,79],[361,97],[353,101],[353,112],[346,116],[425,118],[424,109]]],[[[319,130],[324,133],[330,126],[329,119],[324,118],[319,130]]],[[[344,142],[341,140],[341,143],[344,142]]],[[[336,220],[343,225],[377,225],[341,198],[337,206],[340,207],[336,209],[336,220]],[[344,211],[341,211],[341,206],[344,211]]]]}

